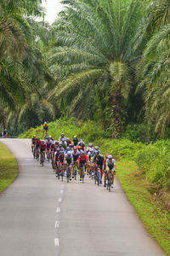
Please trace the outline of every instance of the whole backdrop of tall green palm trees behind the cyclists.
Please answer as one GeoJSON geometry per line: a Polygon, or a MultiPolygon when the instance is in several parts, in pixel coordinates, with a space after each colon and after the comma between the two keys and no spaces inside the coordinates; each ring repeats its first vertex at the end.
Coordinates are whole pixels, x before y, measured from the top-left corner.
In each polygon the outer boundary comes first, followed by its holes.
{"type": "Polygon", "coordinates": [[[66,114],[115,138],[167,137],[170,1],[66,0],[52,26],[41,3],[0,2],[1,128],[66,114]]]}

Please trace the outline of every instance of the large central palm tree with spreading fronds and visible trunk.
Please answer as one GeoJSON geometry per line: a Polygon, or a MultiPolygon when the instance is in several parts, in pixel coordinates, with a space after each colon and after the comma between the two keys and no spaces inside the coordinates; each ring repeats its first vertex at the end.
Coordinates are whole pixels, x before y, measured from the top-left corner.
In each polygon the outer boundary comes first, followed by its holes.
{"type": "Polygon", "coordinates": [[[69,106],[75,114],[77,106],[83,108],[85,99],[87,102],[88,98],[93,99],[96,86],[105,87],[111,95],[108,100],[112,133],[119,137],[134,79],[132,69],[141,54],[134,45],[144,3],[138,0],[63,3],[67,5],[54,22],[56,41],[48,53],[50,67],[59,79],[59,86],[51,95],[56,96],[60,106],[69,106]]]}

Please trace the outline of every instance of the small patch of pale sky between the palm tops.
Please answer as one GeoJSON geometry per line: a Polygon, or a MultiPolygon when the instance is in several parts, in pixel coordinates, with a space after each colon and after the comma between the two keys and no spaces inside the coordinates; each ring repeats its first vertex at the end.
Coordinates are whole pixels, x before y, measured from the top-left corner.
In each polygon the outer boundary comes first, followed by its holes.
{"type": "Polygon", "coordinates": [[[60,0],[42,0],[42,6],[47,9],[45,20],[52,24],[56,18],[57,13],[62,9],[60,0]]]}

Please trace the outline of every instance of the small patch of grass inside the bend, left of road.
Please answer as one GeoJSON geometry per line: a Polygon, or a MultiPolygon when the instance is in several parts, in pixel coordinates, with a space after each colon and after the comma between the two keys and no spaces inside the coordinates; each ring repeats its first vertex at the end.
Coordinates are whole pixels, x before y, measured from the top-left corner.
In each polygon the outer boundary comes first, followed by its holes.
{"type": "Polygon", "coordinates": [[[0,143],[0,193],[14,181],[17,174],[18,166],[14,155],[0,143]]]}

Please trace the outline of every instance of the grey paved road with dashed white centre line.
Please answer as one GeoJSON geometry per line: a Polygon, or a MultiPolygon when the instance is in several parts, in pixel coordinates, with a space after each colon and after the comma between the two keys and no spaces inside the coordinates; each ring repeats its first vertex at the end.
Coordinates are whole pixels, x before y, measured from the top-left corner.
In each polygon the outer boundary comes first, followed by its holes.
{"type": "Polygon", "coordinates": [[[163,256],[116,181],[61,183],[32,159],[29,140],[1,139],[19,177],[0,195],[1,256],[163,256]]]}

